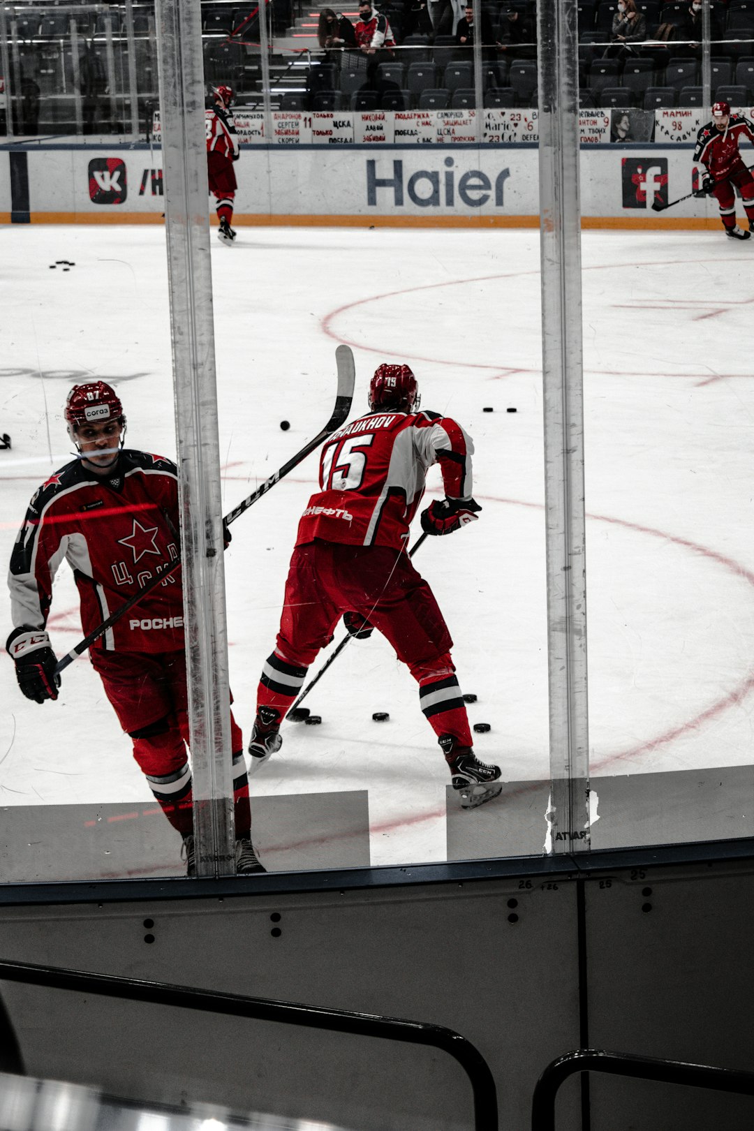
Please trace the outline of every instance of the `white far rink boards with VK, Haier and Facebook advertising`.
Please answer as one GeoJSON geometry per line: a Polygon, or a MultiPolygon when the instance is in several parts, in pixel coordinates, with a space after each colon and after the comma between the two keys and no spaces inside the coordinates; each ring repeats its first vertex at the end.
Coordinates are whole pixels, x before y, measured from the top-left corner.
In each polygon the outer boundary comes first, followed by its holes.
{"type": "MultiPolygon", "coordinates": [[[[328,115],[324,115],[328,116],[328,115]]],[[[329,115],[339,119],[344,115],[329,115]]],[[[359,115],[345,115],[348,118],[359,115]]],[[[8,145],[0,150],[0,223],[162,223],[159,146],[8,145]]],[[[746,152],[744,153],[746,157],[746,152]]],[[[237,224],[536,226],[535,144],[249,145],[236,167],[237,224]]],[[[688,143],[582,145],[584,226],[717,227],[688,143]]]]}

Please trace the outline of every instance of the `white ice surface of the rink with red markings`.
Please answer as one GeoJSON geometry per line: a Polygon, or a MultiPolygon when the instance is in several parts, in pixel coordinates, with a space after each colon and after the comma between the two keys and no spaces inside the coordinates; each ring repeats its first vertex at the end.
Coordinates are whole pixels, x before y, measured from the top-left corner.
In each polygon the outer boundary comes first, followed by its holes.
{"type": "MultiPolygon", "coordinates": [[[[175,443],[164,232],[12,226],[0,241],[6,563],[29,497],[68,458],[71,383],[113,381],[130,446],[173,456],[175,443]],[[58,259],[76,266],[51,270],[58,259]]],[[[721,233],[583,236],[598,775],[751,761],[752,254],[721,233]]],[[[226,509],[320,429],[339,342],[356,356],[355,413],[380,361],[408,361],[423,406],[471,432],[480,521],[425,543],[416,566],[449,622],[461,687],[478,696],[471,722],[492,724],[477,753],[506,780],[546,778],[537,233],[241,228],[234,247],[214,244],[213,270],[226,509]]],[[[231,681],[244,736],[315,470],[311,456],[233,527],[231,681]]],[[[50,631],[59,653],[80,636],[66,566],[50,631]]],[[[150,800],[86,658],[44,706],[21,698],[6,658],[0,698],[0,805],[150,800]]],[[[286,724],[252,792],[369,789],[374,864],[443,858],[444,763],[387,644],[352,644],[307,705],[322,726],[286,724]],[[374,710],[390,722],[373,723],[374,710]]]]}

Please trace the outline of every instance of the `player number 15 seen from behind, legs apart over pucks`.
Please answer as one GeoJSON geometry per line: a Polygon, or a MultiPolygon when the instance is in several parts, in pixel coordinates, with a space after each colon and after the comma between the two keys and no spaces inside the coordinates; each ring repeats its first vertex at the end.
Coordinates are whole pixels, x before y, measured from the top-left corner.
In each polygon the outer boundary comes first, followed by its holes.
{"type": "Polygon", "coordinates": [[[380,365],[369,404],[367,415],[344,425],[322,449],[321,490],[298,524],[280,630],[257,692],[251,772],[280,749],[283,715],[343,616],[352,636],[379,629],[408,665],[461,804],[477,805],[501,792],[500,769],[474,754],[450,633],[406,552],[432,464],[440,465],[445,499],[422,512],[422,528],[451,534],[476,520],[474,444],[451,417],[418,411],[408,365],[380,365]]]}

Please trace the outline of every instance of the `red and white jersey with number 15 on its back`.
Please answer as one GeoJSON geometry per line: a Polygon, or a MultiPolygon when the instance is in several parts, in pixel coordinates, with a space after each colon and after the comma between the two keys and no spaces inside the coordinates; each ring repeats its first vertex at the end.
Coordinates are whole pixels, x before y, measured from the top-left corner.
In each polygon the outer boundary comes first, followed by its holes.
{"type": "Polygon", "coordinates": [[[439,413],[381,409],[346,424],[322,448],[321,490],[301,517],[296,545],[324,538],[400,549],[427,468],[440,464],[445,494],[468,499],[473,454],[471,438],[439,413]]]}

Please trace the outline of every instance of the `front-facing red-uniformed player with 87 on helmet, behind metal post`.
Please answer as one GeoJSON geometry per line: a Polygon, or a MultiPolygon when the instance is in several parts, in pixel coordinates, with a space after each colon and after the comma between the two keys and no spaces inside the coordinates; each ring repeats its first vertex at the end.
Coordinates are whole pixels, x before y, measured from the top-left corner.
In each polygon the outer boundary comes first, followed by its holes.
{"type": "MultiPolygon", "coordinates": [[[[10,559],[14,630],[6,645],[27,699],[57,699],[60,676],[45,625],[63,558],[73,571],[81,625],[89,634],[180,553],[177,469],[162,456],[123,448],[125,416],[104,381],[76,385],[66,400],[78,457],[34,494],[10,559]]],[[[89,648],[133,757],[194,874],[183,594],[180,575],[89,648]]],[[[263,872],[251,844],[249,782],[241,731],[231,715],[236,870],[263,872]]],[[[87,740],[88,741],[88,740],[87,740]]]]}

